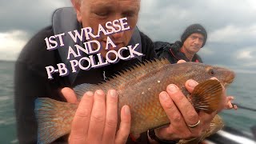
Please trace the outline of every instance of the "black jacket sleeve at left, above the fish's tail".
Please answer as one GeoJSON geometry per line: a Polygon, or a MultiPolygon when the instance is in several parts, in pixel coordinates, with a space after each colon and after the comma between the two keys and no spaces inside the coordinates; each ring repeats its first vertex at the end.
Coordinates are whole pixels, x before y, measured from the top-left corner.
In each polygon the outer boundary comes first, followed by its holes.
{"type": "Polygon", "coordinates": [[[59,89],[64,78],[49,80],[46,66],[55,66],[56,50],[46,50],[44,38],[52,35],[51,27],[36,34],[23,48],[15,63],[14,106],[19,143],[37,143],[38,124],[34,114],[36,98],[48,97],[64,101],[59,89]]]}

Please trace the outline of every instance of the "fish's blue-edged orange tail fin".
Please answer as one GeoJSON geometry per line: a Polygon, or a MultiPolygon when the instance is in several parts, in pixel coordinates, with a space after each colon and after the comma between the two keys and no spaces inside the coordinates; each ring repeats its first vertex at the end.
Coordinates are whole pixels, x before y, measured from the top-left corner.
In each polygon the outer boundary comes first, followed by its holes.
{"type": "Polygon", "coordinates": [[[38,121],[38,144],[54,142],[69,134],[76,109],[76,104],[37,98],[34,112],[38,121]]]}

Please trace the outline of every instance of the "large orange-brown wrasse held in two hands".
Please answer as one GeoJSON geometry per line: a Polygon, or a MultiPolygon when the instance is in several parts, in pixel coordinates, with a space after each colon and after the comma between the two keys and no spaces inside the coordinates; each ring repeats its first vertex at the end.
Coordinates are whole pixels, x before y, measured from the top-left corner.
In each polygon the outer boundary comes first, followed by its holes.
{"type": "MultiPolygon", "coordinates": [[[[141,134],[151,128],[170,123],[159,102],[158,95],[171,83],[177,85],[189,99],[195,110],[210,114],[222,102],[222,86],[234,80],[234,72],[218,66],[198,62],[170,64],[168,60],[146,61],[114,75],[98,85],[82,84],[74,87],[78,98],[86,91],[114,89],[118,92],[118,114],[124,105],[130,106],[130,133],[141,134]],[[210,78],[218,78],[210,80],[210,78]],[[199,84],[192,94],[184,86],[188,79],[199,84]]],[[[58,102],[50,98],[38,98],[35,114],[38,120],[38,143],[50,143],[69,134],[78,104],[58,102]]],[[[120,116],[118,115],[118,122],[120,116]]]]}

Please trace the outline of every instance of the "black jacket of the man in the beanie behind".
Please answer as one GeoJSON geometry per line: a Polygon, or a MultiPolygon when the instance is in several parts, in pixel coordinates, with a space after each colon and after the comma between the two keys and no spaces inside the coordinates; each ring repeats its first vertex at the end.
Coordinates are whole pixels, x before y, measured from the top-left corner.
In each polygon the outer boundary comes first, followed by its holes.
{"type": "MultiPolygon", "coordinates": [[[[181,59],[190,62],[181,51],[182,42],[177,41],[172,44],[168,42],[154,42],[154,45],[158,58],[167,58],[170,63],[177,63],[181,59]]],[[[202,59],[198,54],[194,54],[192,62],[202,62],[202,59]]]]}

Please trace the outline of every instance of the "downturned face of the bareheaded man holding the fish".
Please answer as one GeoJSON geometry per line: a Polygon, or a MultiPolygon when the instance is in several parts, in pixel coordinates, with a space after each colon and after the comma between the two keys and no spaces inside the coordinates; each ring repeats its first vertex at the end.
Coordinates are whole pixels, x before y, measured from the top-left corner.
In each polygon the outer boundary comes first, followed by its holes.
{"type": "MultiPolygon", "coordinates": [[[[94,30],[94,35],[98,34],[98,24],[101,24],[106,29],[106,22],[113,22],[119,18],[127,18],[130,30],[108,35],[117,46],[115,50],[118,50],[130,42],[134,27],[138,22],[140,0],[82,0],[81,6],[75,6],[75,9],[77,11],[78,21],[82,22],[83,27],[91,27],[94,30]]],[[[101,42],[101,54],[103,57],[107,52],[105,50],[106,38],[106,35],[101,34],[101,37],[96,39],[98,42],[101,42]]],[[[108,50],[114,50],[111,45],[109,46],[108,50]]]]}

